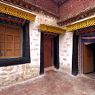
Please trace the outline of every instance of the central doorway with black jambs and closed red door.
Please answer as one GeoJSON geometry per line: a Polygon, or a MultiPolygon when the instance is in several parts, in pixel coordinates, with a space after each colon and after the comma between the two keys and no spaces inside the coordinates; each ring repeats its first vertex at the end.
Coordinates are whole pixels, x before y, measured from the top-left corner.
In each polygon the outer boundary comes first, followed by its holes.
{"type": "Polygon", "coordinates": [[[40,74],[53,68],[59,69],[59,35],[41,32],[40,74]]]}

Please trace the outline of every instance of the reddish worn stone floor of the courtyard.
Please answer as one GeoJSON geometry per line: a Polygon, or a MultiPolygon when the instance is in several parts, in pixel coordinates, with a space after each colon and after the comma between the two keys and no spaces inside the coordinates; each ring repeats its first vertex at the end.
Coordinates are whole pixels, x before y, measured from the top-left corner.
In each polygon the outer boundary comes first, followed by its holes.
{"type": "Polygon", "coordinates": [[[95,80],[49,71],[34,81],[2,88],[0,95],[95,95],[95,80]]]}

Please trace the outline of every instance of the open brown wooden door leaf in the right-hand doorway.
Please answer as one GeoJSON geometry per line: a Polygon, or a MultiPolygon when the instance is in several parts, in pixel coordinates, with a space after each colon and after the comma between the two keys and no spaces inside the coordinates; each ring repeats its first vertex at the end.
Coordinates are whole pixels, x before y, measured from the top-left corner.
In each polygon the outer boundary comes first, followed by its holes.
{"type": "Polygon", "coordinates": [[[83,73],[94,71],[93,50],[90,45],[83,46],[83,73]]]}

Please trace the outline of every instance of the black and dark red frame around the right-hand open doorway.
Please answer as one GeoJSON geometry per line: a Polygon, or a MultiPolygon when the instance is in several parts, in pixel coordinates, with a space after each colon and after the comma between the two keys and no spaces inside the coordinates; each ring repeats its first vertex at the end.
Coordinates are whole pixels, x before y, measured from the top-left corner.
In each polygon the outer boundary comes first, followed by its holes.
{"type": "Polygon", "coordinates": [[[73,52],[72,52],[72,74],[77,75],[78,74],[78,52],[80,52],[79,58],[80,60],[80,73],[83,74],[83,56],[82,56],[82,39],[81,35],[83,33],[93,33],[95,31],[95,26],[86,27],[83,29],[75,30],[73,31],[73,52]],[[79,43],[80,40],[80,43],[79,43]],[[80,49],[78,51],[78,44],[80,45],[80,49]]]}

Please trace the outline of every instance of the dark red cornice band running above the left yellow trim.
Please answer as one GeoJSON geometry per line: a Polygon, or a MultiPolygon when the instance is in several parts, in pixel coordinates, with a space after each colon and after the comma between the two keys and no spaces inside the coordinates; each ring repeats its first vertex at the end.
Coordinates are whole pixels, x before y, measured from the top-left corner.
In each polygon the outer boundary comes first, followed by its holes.
{"type": "Polygon", "coordinates": [[[59,19],[59,15],[56,13],[52,13],[51,11],[47,9],[43,9],[40,6],[36,5],[36,0],[34,0],[34,4],[31,2],[31,0],[2,0],[4,3],[16,5],[22,9],[26,9],[29,11],[35,11],[37,13],[42,12],[44,15],[52,16],[54,18],[59,19]]]}

